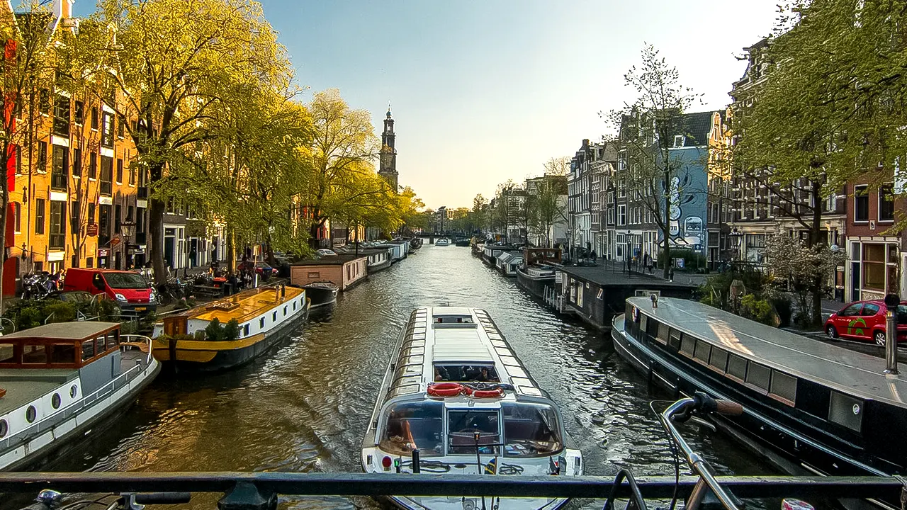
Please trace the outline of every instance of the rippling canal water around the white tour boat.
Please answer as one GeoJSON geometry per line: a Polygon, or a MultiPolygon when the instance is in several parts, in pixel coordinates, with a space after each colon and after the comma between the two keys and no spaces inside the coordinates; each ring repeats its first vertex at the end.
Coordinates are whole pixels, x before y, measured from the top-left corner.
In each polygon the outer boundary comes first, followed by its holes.
{"type": "MultiPolygon", "coordinates": [[[[246,367],[205,378],[161,374],[126,417],[53,467],[359,472],[359,446],[395,339],[410,311],[426,305],[489,311],[560,405],[587,474],[612,475],[621,467],[638,475],[674,474],[668,442],[649,408],[669,396],[629,368],[610,338],[543,308],[470,249],[427,243],[346,292],[333,309],[314,311],[291,338],[246,367]]],[[[771,473],[726,436],[686,430],[720,473],[771,473]]],[[[217,498],[195,496],[188,506],[213,508],[217,498]]],[[[364,497],[282,502],[289,508],[380,507],[364,497]]],[[[571,505],[600,508],[591,501],[571,505]]]]}

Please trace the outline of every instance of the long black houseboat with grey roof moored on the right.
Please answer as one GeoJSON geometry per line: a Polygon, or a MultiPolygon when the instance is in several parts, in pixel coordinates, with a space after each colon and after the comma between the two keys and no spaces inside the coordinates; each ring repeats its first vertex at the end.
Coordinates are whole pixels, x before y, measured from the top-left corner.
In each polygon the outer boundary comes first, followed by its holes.
{"type": "MultiPolygon", "coordinates": [[[[619,355],[678,394],[733,400],[717,425],[789,472],[903,475],[907,378],[884,360],[683,299],[626,300],[619,355]]],[[[894,507],[900,503],[889,502],[894,507]]]]}

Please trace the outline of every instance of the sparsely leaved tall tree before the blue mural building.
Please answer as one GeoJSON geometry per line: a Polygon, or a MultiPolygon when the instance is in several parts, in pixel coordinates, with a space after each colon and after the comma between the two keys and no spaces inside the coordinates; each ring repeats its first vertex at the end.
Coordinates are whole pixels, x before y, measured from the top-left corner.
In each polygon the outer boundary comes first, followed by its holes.
{"type": "MultiPolygon", "coordinates": [[[[674,156],[670,148],[675,135],[688,132],[684,113],[698,95],[680,84],[677,68],[668,65],[652,45],[642,49],[641,57],[639,68],[633,66],[624,75],[637,99],[610,113],[610,123],[617,130],[612,141],[625,151],[629,172],[619,185],[626,186],[631,200],[649,212],[661,233],[664,258],[670,260],[671,213],[695,191],[688,189],[689,166],[694,162],[674,156]]],[[[665,279],[668,270],[665,264],[665,279]]]]}

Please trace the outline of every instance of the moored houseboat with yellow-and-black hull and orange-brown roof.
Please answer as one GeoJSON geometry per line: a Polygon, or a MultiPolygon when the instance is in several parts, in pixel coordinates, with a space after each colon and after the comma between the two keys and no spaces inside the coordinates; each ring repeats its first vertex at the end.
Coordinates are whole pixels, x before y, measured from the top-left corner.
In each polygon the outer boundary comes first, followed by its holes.
{"type": "Polygon", "coordinates": [[[177,370],[211,372],[235,368],[267,352],[308,317],[305,289],[249,289],[171,315],[154,325],[154,358],[177,370]],[[210,324],[221,324],[212,338],[210,324]],[[239,330],[229,331],[230,319],[239,330]],[[222,335],[222,337],[221,337],[222,335]]]}

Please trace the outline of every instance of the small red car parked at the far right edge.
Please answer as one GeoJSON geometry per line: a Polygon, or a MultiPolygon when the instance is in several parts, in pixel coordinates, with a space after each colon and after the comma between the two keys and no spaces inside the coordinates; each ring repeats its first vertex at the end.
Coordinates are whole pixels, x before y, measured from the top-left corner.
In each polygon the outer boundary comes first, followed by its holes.
{"type": "MultiPolygon", "coordinates": [[[[825,320],[825,333],[831,338],[872,340],[885,345],[885,313],[883,301],[854,301],[825,320]]],[[[901,301],[895,311],[898,316],[898,342],[907,341],[907,301],[901,301]]]]}

